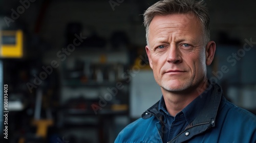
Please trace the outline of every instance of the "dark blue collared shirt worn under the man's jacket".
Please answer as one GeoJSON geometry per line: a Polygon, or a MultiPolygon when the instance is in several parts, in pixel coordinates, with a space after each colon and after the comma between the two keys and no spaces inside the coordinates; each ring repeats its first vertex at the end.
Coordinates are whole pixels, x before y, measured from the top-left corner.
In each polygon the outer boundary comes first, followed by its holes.
{"type": "Polygon", "coordinates": [[[208,92],[202,93],[194,101],[188,104],[175,117],[170,115],[165,106],[164,98],[160,99],[159,111],[163,114],[163,142],[167,142],[176,137],[180,132],[195,120],[196,116],[205,104],[210,101],[211,89],[208,92]]]}

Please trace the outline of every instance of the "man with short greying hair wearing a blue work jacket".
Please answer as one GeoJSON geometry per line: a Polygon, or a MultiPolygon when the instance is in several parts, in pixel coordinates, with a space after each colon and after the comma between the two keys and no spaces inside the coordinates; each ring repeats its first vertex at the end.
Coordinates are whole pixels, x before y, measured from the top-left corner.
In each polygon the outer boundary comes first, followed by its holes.
{"type": "Polygon", "coordinates": [[[256,142],[256,116],[207,80],[216,44],[202,2],[159,1],[144,13],[146,53],[162,98],[115,142],[256,142]]]}

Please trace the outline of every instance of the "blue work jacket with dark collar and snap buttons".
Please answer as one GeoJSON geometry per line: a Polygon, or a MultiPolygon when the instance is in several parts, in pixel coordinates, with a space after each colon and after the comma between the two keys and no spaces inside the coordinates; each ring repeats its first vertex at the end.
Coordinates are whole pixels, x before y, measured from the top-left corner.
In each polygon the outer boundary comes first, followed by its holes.
{"type": "MultiPolygon", "coordinates": [[[[210,84],[208,104],[184,131],[170,142],[256,142],[256,116],[228,102],[218,84],[210,84]]],[[[142,117],[126,126],[115,143],[163,142],[162,113],[159,102],[147,109],[142,117]]],[[[166,143],[166,142],[164,142],[166,143]]]]}

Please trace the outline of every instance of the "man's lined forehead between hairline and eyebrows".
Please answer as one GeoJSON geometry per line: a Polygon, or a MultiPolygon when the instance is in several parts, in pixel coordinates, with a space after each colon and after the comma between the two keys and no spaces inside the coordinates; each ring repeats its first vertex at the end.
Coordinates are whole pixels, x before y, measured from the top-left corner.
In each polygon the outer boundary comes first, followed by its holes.
{"type": "Polygon", "coordinates": [[[199,20],[191,19],[186,14],[169,14],[155,16],[148,34],[151,42],[166,42],[172,38],[177,42],[198,43],[197,38],[203,35],[203,29],[199,20]]]}

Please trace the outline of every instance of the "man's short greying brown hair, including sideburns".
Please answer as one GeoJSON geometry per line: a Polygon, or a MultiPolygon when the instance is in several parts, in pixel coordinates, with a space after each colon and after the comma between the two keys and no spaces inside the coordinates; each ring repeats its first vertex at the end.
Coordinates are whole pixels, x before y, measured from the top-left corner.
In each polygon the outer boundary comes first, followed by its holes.
{"type": "Polygon", "coordinates": [[[156,15],[168,15],[174,13],[189,14],[193,12],[200,19],[204,32],[204,43],[210,41],[210,18],[203,1],[194,0],[163,0],[149,7],[143,14],[146,28],[146,42],[148,43],[149,27],[156,15]]]}

